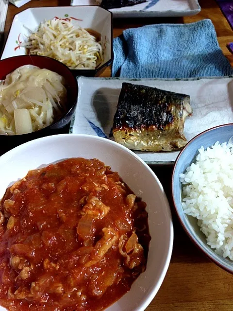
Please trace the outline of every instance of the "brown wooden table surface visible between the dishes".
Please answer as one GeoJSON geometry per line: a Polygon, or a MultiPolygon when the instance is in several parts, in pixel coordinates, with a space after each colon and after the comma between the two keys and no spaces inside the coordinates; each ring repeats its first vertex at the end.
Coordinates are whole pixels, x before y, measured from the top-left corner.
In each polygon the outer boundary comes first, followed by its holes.
{"type": "MultiPolygon", "coordinates": [[[[114,19],[114,37],[124,29],[154,23],[190,23],[210,18],[215,25],[219,45],[233,66],[233,54],[226,44],[233,41],[233,31],[215,0],[200,0],[201,12],[184,18],[114,19]]],[[[6,38],[15,14],[28,7],[66,6],[69,0],[32,0],[21,8],[9,5],[4,36],[6,38]]],[[[102,76],[110,76],[110,68],[102,76]]],[[[174,247],[165,280],[146,311],[231,311],[233,310],[233,277],[210,262],[192,244],[174,214],[171,202],[172,166],[154,167],[170,202],[174,224],[174,247]]]]}

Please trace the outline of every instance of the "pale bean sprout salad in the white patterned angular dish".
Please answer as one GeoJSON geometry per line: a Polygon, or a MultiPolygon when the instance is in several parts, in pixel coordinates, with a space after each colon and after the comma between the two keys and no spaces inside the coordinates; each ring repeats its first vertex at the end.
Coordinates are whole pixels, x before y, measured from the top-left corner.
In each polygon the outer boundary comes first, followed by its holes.
{"type": "Polygon", "coordinates": [[[87,30],[73,25],[71,19],[54,17],[42,22],[28,42],[29,54],[55,58],[70,69],[96,69],[103,60],[100,42],[87,30]]]}

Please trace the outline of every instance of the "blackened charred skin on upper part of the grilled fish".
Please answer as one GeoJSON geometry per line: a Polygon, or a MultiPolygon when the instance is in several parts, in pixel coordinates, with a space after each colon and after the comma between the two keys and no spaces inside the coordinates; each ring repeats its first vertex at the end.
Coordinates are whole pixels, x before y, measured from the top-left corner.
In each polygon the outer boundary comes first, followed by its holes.
{"type": "Polygon", "coordinates": [[[123,83],[118,99],[114,125],[139,130],[153,126],[166,130],[178,116],[183,116],[183,102],[190,96],[160,90],[155,87],[123,83]]]}

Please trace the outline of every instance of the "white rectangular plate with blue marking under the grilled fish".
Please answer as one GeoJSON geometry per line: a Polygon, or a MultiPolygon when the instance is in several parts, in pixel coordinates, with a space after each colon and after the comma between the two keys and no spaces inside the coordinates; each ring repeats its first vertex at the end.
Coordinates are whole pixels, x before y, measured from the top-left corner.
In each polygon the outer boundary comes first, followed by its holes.
{"type": "MultiPolygon", "coordinates": [[[[233,122],[233,77],[187,80],[80,77],[78,104],[70,133],[113,139],[111,129],[123,82],[190,95],[193,116],[188,117],[184,124],[184,135],[188,141],[211,127],[233,122]]],[[[135,153],[148,164],[173,163],[179,154],[135,153]]]]}

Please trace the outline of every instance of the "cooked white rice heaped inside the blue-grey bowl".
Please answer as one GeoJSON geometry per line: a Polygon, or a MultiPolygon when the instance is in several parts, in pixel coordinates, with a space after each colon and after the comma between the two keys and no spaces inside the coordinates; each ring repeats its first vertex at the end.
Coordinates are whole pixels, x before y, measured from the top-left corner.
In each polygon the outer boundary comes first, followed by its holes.
{"type": "Polygon", "coordinates": [[[180,174],[184,212],[198,219],[207,244],[233,260],[233,145],[199,149],[196,162],[180,174]]]}

